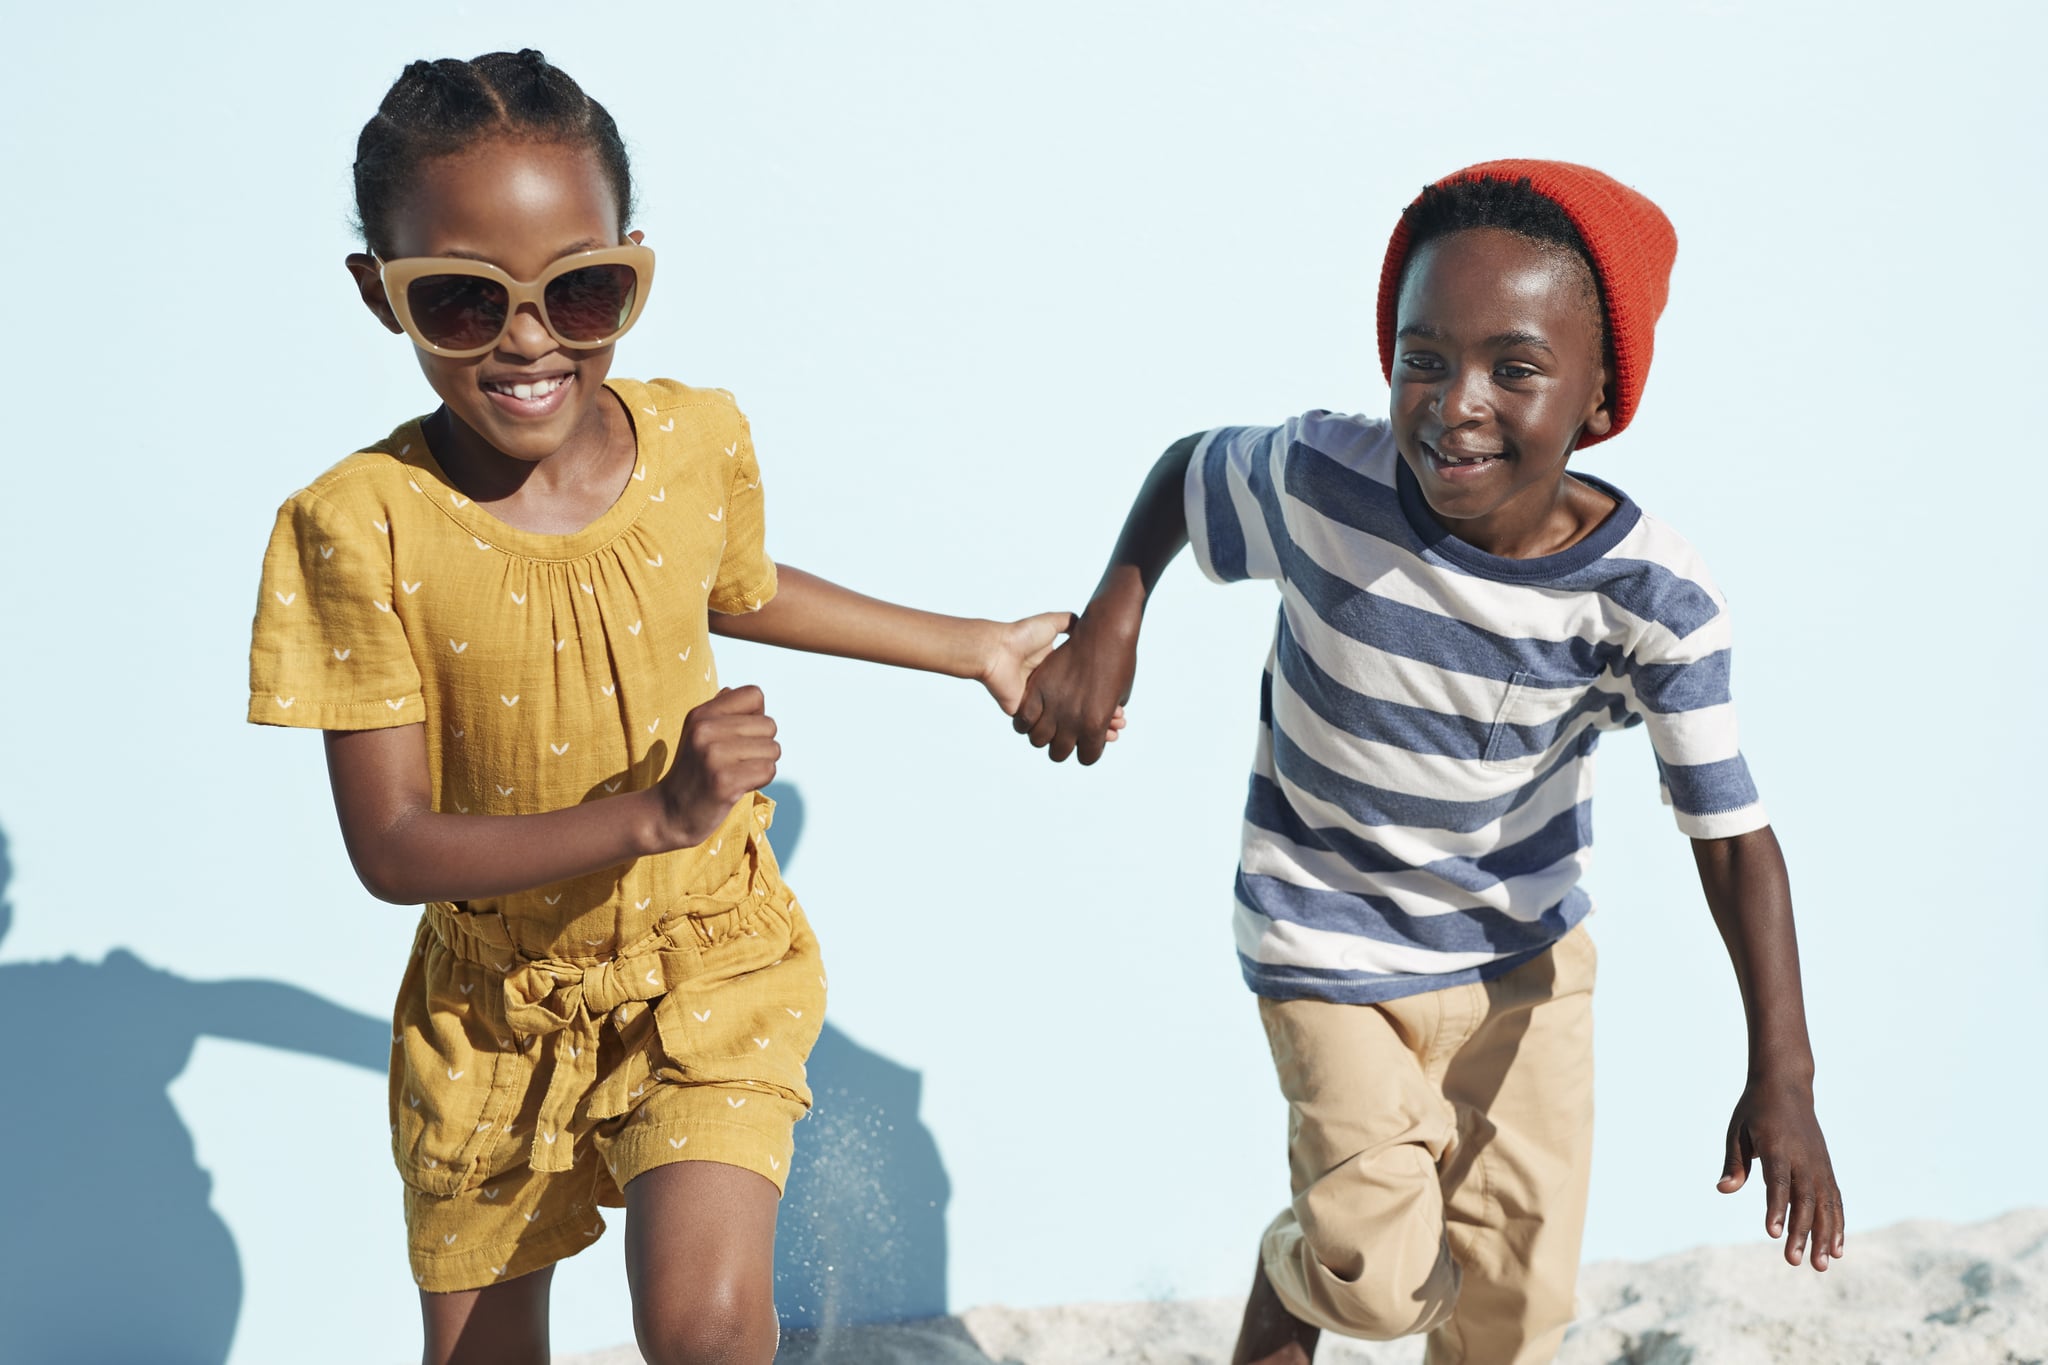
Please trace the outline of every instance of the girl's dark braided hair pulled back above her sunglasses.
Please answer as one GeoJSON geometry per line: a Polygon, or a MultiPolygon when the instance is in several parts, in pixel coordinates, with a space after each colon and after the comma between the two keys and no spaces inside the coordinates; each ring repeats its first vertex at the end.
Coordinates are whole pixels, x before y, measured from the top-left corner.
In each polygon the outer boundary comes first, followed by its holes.
{"type": "Polygon", "coordinates": [[[373,256],[387,256],[389,215],[420,166],[485,137],[590,147],[612,182],[618,223],[631,217],[633,170],[618,125],[567,72],[532,47],[473,61],[438,57],[399,72],[356,137],[356,229],[373,256]]]}

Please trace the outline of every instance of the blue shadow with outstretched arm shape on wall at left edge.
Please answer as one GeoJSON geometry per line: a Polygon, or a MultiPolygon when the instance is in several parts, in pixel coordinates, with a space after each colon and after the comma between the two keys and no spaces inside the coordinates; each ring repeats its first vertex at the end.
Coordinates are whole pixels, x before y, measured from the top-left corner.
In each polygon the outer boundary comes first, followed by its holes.
{"type": "MultiPolygon", "coordinates": [[[[12,864],[0,831],[0,939],[12,864]]],[[[201,1036],[385,1070],[391,1029],[272,980],[127,950],[0,962],[0,1363],[219,1365],[242,1261],[168,1087],[201,1036]]]]}

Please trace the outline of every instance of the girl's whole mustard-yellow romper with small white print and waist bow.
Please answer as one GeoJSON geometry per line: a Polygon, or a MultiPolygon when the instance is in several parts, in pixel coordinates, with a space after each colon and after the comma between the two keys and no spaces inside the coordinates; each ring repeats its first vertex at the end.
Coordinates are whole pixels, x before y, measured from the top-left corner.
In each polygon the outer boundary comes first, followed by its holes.
{"type": "MultiPolygon", "coordinates": [[[[258,724],[426,724],[434,808],[557,810],[653,786],[717,688],[707,610],[776,571],[729,393],[606,385],[639,460],[567,536],[457,491],[418,422],[279,510],[250,645],[258,724]]],[[[825,974],[741,800],[694,849],[426,907],[391,1038],[414,1279],[475,1289],[588,1246],[676,1160],[788,1175],[825,974]]]]}

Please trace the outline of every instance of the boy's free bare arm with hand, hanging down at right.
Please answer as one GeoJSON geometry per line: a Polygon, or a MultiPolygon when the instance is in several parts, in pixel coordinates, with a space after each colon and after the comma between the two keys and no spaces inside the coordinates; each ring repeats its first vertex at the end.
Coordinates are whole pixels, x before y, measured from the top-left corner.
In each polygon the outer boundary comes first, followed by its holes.
{"type": "Polygon", "coordinates": [[[1786,1236],[1790,1265],[1800,1263],[1810,1240],[1812,1269],[1825,1271],[1843,1250],[1845,1224],[1812,1111],[1812,1044],[1786,860],[1767,825],[1733,839],[1694,839],[1692,855],[1749,1019],[1749,1083],[1729,1119],[1720,1191],[1741,1189],[1751,1158],[1759,1158],[1765,1232],[1786,1236]]]}

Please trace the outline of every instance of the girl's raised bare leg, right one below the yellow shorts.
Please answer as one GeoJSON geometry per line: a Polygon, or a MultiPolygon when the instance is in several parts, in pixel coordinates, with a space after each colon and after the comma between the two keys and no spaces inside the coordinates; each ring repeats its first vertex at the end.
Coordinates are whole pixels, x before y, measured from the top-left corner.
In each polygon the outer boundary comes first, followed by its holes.
{"type": "Polygon", "coordinates": [[[776,1187],[713,1160],[627,1185],[627,1283],[647,1365],[768,1365],[776,1187]]]}

